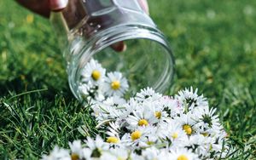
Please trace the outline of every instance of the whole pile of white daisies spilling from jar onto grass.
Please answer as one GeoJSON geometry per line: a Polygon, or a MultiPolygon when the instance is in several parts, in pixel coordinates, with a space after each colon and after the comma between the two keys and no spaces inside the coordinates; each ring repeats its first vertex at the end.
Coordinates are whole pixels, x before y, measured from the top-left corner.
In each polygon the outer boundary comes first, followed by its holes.
{"type": "Polygon", "coordinates": [[[70,149],[55,146],[43,159],[217,159],[227,156],[227,134],[216,109],[197,89],[174,96],[142,89],[130,100],[122,96],[129,86],[120,72],[109,72],[96,60],[84,70],[79,92],[90,103],[97,129],[106,137],[69,142],[70,149]],[[103,84],[103,85],[102,85],[103,84]]]}

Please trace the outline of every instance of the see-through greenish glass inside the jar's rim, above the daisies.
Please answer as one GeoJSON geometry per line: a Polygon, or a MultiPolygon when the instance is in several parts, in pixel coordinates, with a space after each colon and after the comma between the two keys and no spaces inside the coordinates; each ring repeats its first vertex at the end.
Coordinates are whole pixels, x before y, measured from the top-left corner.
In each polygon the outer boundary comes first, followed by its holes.
{"type": "Polygon", "coordinates": [[[110,47],[92,56],[107,71],[119,71],[128,80],[127,95],[151,87],[160,92],[172,81],[172,57],[160,43],[148,39],[126,40],[127,49],[116,52],[110,47]]]}

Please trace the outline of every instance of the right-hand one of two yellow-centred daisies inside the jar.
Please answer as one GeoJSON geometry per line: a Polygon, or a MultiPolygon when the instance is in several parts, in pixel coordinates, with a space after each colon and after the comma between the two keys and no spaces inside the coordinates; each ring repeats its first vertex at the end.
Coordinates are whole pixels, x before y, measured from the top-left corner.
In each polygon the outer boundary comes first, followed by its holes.
{"type": "Polygon", "coordinates": [[[118,71],[109,72],[106,82],[103,86],[104,93],[107,96],[118,95],[122,96],[128,90],[129,85],[122,73],[118,71]]]}

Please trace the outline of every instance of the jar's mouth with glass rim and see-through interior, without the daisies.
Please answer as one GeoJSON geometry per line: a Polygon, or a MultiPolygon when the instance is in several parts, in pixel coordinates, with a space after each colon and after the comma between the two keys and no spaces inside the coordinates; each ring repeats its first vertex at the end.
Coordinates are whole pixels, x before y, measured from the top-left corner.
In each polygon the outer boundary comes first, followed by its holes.
{"type": "MultiPolygon", "coordinates": [[[[79,37],[83,40],[84,37],[79,37]]],[[[170,87],[174,72],[172,50],[160,31],[150,26],[122,25],[99,31],[94,37],[79,43],[73,49],[68,66],[70,88],[79,100],[82,83],[81,71],[91,60],[95,59],[107,71],[120,71],[127,78],[129,95],[138,90],[150,87],[163,93],[170,87]],[[127,50],[115,53],[109,46],[124,41],[127,50]],[[84,43],[83,43],[84,42],[84,43]]]]}

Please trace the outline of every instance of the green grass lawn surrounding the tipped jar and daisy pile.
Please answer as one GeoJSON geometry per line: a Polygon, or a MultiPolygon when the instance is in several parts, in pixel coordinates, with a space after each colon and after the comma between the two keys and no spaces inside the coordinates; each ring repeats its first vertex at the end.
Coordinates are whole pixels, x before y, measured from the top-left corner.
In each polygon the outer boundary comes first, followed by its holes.
{"type": "MultiPolygon", "coordinates": [[[[169,90],[190,85],[218,108],[230,159],[256,157],[256,1],[150,1],[176,57],[169,90]]],[[[36,159],[53,146],[94,135],[96,122],[68,88],[49,21],[0,2],[0,159],[36,159]],[[83,126],[82,128],[79,128],[83,126]],[[83,130],[83,132],[81,131],[83,130]],[[83,134],[81,134],[83,133],[83,134]]]]}

